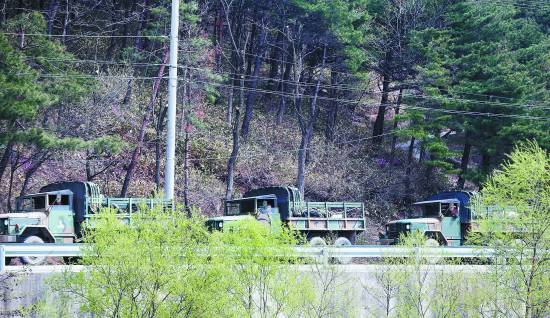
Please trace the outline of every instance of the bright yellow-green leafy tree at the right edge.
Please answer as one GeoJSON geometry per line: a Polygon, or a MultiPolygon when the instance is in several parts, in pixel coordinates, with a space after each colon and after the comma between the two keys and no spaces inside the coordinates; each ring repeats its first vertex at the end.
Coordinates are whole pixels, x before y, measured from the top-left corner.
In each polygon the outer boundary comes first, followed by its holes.
{"type": "Polygon", "coordinates": [[[470,238],[496,249],[486,302],[499,312],[545,317],[550,296],[550,156],[521,144],[485,183],[473,209],[479,228],[470,238]]]}

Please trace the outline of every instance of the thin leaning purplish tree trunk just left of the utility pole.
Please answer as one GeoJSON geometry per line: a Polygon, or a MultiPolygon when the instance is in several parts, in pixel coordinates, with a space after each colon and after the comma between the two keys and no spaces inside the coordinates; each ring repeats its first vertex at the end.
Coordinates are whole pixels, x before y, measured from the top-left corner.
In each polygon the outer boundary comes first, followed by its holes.
{"type": "Polygon", "coordinates": [[[126,195],[128,194],[128,188],[130,186],[130,182],[132,181],[132,177],[134,176],[134,172],[136,170],[139,158],[141,156],[141,149],[143,148],[143,141],[145,139],[145,129],[147,128],[147,125],[149,125],[149,122],[151,121],[151,116],[153,113],[153,108],[155,106],[158,89],[159,89],[162,77],[164,76],[164,68],[166,66],[166,63],[168,62],[168,57],[169,57],[169,50],[168,50],[168,46],[165,44],[164,57],[162,59],[163,61],[158,71],[158,77],[155,79],[155,82],[153,83],[151,101],[149,102],[145,115],[143,116],[143,120],[141,121],[137,145],[136,145],[136,148],[134,148],[134,151],[132,153],[130,164],[126,169],[126,177],[124,178],[124,183],[122,184],[122,189],[120,190],[121,197],[126,197],[126,195]]]}

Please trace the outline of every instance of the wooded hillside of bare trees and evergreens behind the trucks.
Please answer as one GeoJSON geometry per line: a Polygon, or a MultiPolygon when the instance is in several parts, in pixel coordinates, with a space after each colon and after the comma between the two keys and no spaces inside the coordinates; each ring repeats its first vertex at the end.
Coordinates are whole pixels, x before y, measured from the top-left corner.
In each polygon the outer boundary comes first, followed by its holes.
{"type": "MultiPolygon", "coordinates": [[[[64,180],[162,193],[170,1],[0,0],[0,209],[64,180]]],[[[268,185],[373,224],[550,148],[543,0],[182,0],[176,197],[268,185]]]]}

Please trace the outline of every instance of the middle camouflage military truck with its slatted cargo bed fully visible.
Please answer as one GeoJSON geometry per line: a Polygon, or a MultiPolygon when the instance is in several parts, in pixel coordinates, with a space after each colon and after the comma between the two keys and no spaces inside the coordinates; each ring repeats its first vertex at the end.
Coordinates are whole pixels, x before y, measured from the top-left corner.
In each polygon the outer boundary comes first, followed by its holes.
{"type": "Polygon", "coordinates": [[[365,207],[360,202],[307,202],[294,187],[275,186],[246,192],[243,198],[225,202],[224,215],[208,219],[211,230],[223,230],[231,222],[254,217],[276,228],[291,226],[311,245],[352,245],[365,230],[365,207]]]}

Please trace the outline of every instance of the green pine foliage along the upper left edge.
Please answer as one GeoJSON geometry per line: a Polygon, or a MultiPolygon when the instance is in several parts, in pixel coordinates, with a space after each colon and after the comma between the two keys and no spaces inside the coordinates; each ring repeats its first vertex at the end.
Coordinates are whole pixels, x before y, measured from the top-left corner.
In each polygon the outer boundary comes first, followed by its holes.
{"type": "Polygon", "coordinates": [[[35,125],[46,110],[78,102],[93,88],[93,81],[77,72],[74,57],[61,44],[36,35],[46,31],[41,14],[18,15],[4,27],[19,35],[8,38],[0,34],[0,122],[7,128],[0,133],[0,143],[35,144],[41,149],[76,150],[107,144],[116,148],[117,138],[84,142],[59,138],[51,127],[35,125]],[[31,35],[25,36],[27,33],[31,35]]]}

